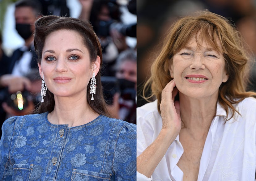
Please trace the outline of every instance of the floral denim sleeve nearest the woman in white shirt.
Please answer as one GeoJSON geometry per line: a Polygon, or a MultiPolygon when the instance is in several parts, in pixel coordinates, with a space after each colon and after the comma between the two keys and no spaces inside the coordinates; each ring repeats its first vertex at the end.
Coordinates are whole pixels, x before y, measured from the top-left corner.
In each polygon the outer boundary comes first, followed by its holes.
{"type": "Polygon", "coordinates": [[[126,123],[117,137],[113,171],[115,180],[136,180],[136,125],[126,123]]]}

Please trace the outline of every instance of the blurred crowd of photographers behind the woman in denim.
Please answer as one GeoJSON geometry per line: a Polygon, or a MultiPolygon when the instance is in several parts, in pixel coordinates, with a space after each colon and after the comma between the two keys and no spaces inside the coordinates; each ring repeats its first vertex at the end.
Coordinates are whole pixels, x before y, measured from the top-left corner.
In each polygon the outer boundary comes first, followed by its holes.
{"type": "Polygon", "coordinates": [[[1,126],[41,103],[33,44],[42,15],[89,20],[103,51],[102,83],[112,117],[136,124],[136,0],[0,0],[1,126]]]}

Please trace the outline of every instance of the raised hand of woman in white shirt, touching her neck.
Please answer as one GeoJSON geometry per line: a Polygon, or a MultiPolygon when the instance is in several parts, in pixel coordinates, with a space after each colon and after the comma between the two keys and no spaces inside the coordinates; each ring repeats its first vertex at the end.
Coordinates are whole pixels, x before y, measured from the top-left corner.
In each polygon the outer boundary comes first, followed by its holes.
{"type": "Polygon", "coordinates": [[[181,130],[180,104],[179,101],[174,102],[174,98],[177,94],[178,89],[175,87],[175,81],[173,79],[164,87],[160,103],[163,121],[162,129],[170,130],[170,133],[176,136],[181,130]]]}

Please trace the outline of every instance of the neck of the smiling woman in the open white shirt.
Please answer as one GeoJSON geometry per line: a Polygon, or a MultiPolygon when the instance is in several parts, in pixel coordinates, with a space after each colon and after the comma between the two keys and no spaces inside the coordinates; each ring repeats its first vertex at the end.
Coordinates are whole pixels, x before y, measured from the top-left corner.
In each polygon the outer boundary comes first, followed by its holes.
{"type": "Polygon", "coordinates": [[[179,93],[183,128],[195,133],[207,130],[208,133],[211,121],[216,114],[217,96],[196,99],[179,93]]]}

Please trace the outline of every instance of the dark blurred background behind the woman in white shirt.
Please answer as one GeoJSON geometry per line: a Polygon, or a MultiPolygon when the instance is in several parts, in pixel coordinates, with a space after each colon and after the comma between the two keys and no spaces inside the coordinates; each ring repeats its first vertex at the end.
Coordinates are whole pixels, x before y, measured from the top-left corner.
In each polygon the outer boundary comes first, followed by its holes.
{"type": "Polygon", "coordinates": [[[143,83],[150,75],[150,66],[162,47],[165,33],[178,18],[208,9],[230,20],[241,32],[251,57],[248,90],[256,91],[256,0],[139,0],[137,1],[137,106],[142,98],[143,83]]]}

